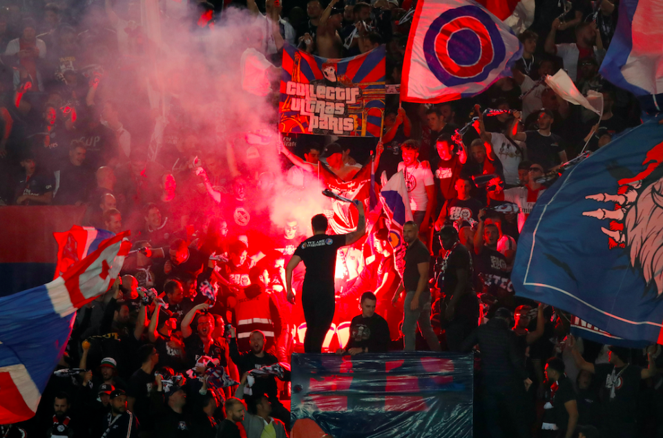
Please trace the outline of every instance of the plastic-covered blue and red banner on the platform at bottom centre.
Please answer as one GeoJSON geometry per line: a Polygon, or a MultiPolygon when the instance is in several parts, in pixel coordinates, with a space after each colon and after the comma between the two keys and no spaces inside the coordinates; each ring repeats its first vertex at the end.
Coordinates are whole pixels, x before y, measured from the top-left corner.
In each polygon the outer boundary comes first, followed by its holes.
{"type": "Polygon", "coordinates": [[[472,354],[292,355],[292,436],[472,437],[472,354]]]}

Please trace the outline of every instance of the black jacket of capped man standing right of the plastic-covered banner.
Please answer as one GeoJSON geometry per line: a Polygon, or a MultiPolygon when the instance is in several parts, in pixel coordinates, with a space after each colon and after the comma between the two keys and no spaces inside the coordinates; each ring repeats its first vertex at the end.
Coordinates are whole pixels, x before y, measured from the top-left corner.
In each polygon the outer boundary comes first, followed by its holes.
{"type": "Polygon", "coordinates": [[[461,351],[468,352],[479,344],[481,350],[481,371],[483,384],[497,388],[522,382],[527,379],[525,361],[517,349],[516,334],[508,323],[500,318],[492,318],[479,325],[461,345],[461,351]]]}

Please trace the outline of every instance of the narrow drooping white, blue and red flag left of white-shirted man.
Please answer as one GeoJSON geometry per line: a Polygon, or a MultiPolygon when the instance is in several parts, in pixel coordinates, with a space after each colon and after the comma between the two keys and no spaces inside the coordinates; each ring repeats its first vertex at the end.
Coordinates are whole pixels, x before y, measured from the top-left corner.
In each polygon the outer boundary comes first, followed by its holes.
{"type": "Polygon", "coordinates": [[[380,191],[382,206],[387,215],[387,227],[389,227],[389,241],[394,248],[394,262],[396,269],[403,276],[405,269],[405,244],[403,243],[403,225],[412,220],[410,209],[410,198],[407,196],[407,185],[403,171],[399,171],[387,181],[380,191]]]}

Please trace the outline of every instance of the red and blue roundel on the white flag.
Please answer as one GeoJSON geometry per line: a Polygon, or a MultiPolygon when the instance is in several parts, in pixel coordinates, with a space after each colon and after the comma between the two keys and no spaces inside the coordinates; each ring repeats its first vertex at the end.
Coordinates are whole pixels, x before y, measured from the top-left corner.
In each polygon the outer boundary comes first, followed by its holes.
{"type": "Polygon", "coordinates": [[[445,86],[481,82],[504,61],[499,28],[479,6],[446,10],[434,19],[423,40],[432,73],[445,86]]]}

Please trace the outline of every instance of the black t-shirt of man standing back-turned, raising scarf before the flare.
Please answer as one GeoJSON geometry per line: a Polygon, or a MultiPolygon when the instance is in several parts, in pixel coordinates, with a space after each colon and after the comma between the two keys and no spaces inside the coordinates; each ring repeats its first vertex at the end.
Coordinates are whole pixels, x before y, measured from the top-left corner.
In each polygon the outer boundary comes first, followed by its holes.
{"type": "Polygon", "coordinates": [[[306,267],[304,289],[334,289],[336,250],[344,246],[345,234],[316,234],[300,243],[294,255],[300,257],[306,267]]]}

